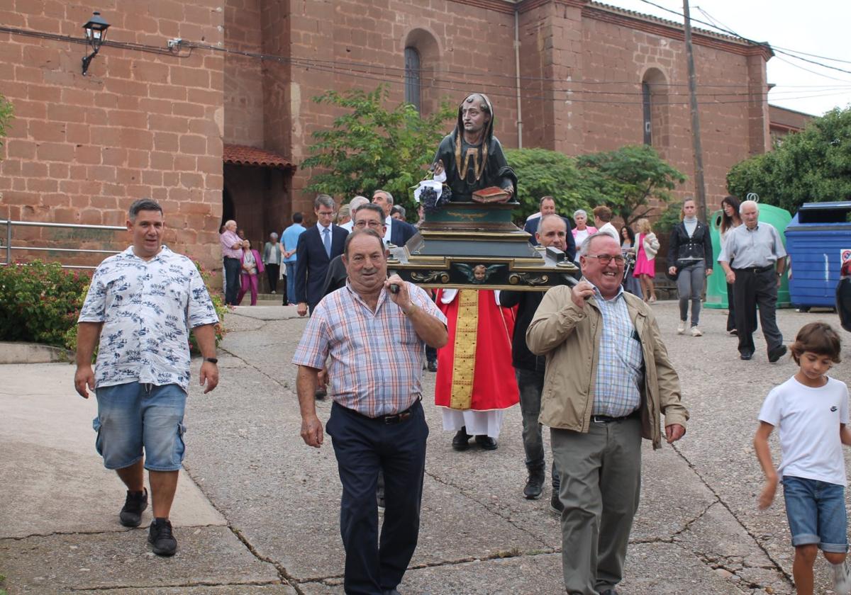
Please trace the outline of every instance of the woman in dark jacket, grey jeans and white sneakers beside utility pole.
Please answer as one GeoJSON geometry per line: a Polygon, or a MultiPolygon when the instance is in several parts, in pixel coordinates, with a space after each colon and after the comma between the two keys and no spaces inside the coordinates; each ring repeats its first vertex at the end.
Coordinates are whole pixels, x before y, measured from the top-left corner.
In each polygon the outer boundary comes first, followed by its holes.
{"type": "Polygon", "coordinates": [[[671,231],[668,247],[668,273],[677,275],[677,293],[680,296],[680,323],[677,333],[686,331],[688,303],[691,302],[691,335],[700,337],[700,298],[706,277],[712,274],[712,240],[709,228],[697,218],[694,198],[683,201],[680,223],[671,231]]]}

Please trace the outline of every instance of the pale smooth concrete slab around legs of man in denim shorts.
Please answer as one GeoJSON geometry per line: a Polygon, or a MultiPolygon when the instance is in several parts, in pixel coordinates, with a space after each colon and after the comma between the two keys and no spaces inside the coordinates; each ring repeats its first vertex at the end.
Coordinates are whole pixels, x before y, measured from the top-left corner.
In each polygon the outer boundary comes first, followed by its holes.
{"type": "MultiPolygon", "coordinates": [[[[97,401],[74,392],[74,370],[0,365],[0,452],[26,453],[0,456],[0,537],[127,530],[117,523],[126,488],[94,450],[97,401]]],[[[174,525],[226,524],[186,472],[180,476],[174,525]]],[[[144,523],[150,514],[149,507],[144,523]]]]}

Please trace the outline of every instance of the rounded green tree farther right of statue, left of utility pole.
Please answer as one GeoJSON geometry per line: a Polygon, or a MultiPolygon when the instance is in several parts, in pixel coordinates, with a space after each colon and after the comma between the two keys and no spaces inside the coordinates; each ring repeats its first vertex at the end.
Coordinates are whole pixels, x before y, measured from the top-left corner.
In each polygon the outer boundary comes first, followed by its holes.
{"type": "Polygon", "coordinates": [[[580,175],[589,189],[587,200],[606,205],[614,215],[631,225],[653,210],[651,199],[671,201],[671,190],[686,177],[646,144],[581,155],[576,158],[580,175]]]}

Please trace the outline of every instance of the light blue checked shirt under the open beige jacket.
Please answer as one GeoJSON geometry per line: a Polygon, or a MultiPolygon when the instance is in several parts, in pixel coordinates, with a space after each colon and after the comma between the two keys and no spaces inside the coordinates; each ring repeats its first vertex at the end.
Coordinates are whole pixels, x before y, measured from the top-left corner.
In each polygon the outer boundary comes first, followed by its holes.
{"type": "Polygon", "coordinates": [[[618,295],[607,300],[595,286],[594,297],[603,316],[603,336],[600,337],[600,360],[591,414],[628,416],[641,406],[641,341],[626,309],[623,287],[618,295]]]}

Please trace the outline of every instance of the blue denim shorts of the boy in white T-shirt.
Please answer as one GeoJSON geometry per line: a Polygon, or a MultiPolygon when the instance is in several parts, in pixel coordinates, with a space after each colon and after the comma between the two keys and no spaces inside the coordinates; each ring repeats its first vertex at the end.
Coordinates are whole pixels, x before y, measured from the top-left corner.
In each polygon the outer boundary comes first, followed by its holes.
{"type": "Polygon", "coordinates": [[[824,552],[848,552],[844,486],[784,476],[783,499],[793,546],[815,543],[824,552]]]}

